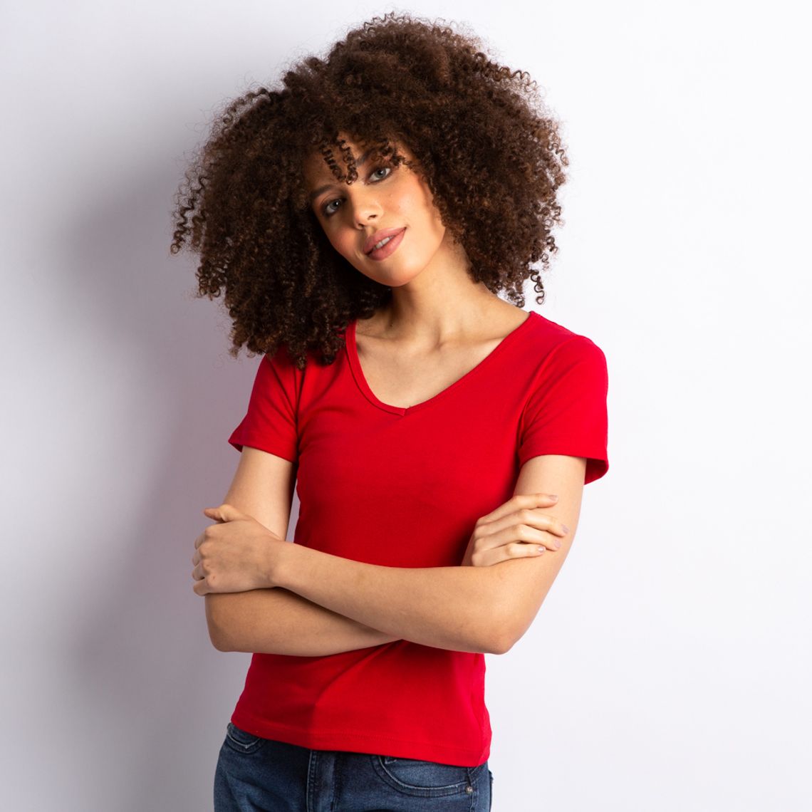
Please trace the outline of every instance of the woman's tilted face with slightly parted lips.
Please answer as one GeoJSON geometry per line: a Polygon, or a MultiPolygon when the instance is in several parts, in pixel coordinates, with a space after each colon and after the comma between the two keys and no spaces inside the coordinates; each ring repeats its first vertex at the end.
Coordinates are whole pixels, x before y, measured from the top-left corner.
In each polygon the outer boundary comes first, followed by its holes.
{"type": "MultiPolygon", "coordinates": [[[[408,166],[363,160],[363,145],[347,141],[358,177],[340,182],[321,155],[305,163],[310,205],[330,244],[354,268],[389,287],[408,283],[449,252],[446,228],[425,182],[408,166]],[[362,162],[363,161],[363,162],[362,162]],[[389,236],[387,245],[373,248],[389,236]],[[372,248],[370,251],[369,248],[372,248]]],[[[398,144],[398,151],[413,160],[398,144]]],[[[341,153],[334,148],[341,165],[341,153]]]]}

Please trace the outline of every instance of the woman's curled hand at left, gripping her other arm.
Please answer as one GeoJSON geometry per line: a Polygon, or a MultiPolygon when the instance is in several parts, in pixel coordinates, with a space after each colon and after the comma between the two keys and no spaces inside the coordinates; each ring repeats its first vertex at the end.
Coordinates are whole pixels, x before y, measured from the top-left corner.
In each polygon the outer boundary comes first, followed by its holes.
{"type": "Polygon", "coordinates": [[[203,513],[218,524],[209,525],[195,540],[195,593],[248,592],[275,586],[274,565],[283,552],[279,545],[287,542],[230,504],[205,508],[203,513]]]}

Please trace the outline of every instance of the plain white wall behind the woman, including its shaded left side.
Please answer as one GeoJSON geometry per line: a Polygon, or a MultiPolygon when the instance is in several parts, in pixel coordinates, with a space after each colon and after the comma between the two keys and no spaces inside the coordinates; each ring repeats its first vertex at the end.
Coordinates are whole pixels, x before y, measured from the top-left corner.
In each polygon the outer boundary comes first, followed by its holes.
{"type": "Polygon", "coordinates": [[[172,197],[215,108],[391,9],[546,89],[539,312],[609,363],[610,471],[488,657],[495,812],[809,809],[808,37],[685,0],[3,3],[2,806],[211,807],[248,655],[189,559],[258,358],[171,257],[172,197]]]}

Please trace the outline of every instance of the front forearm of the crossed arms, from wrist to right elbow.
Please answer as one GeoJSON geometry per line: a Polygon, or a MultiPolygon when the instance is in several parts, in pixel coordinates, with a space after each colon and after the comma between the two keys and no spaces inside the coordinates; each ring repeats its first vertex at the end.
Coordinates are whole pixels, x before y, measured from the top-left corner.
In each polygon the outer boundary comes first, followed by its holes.
{"type": "Polygon", "coordinates": [[[382,633],[455,651],[512,645],[504,568],[382,567],[299,545],[284,553],[279,585],[382,633]]]}

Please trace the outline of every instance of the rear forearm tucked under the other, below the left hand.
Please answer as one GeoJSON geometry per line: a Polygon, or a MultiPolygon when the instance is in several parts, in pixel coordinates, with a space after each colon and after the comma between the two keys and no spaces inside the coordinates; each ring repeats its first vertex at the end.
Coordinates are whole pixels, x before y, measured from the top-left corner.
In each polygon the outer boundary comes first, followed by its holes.
{"type": "Polygon", "coordinates": [[[400,639],[283,589],[208,594],[205,613],[220,651],[320,657],[400,639]]]}

